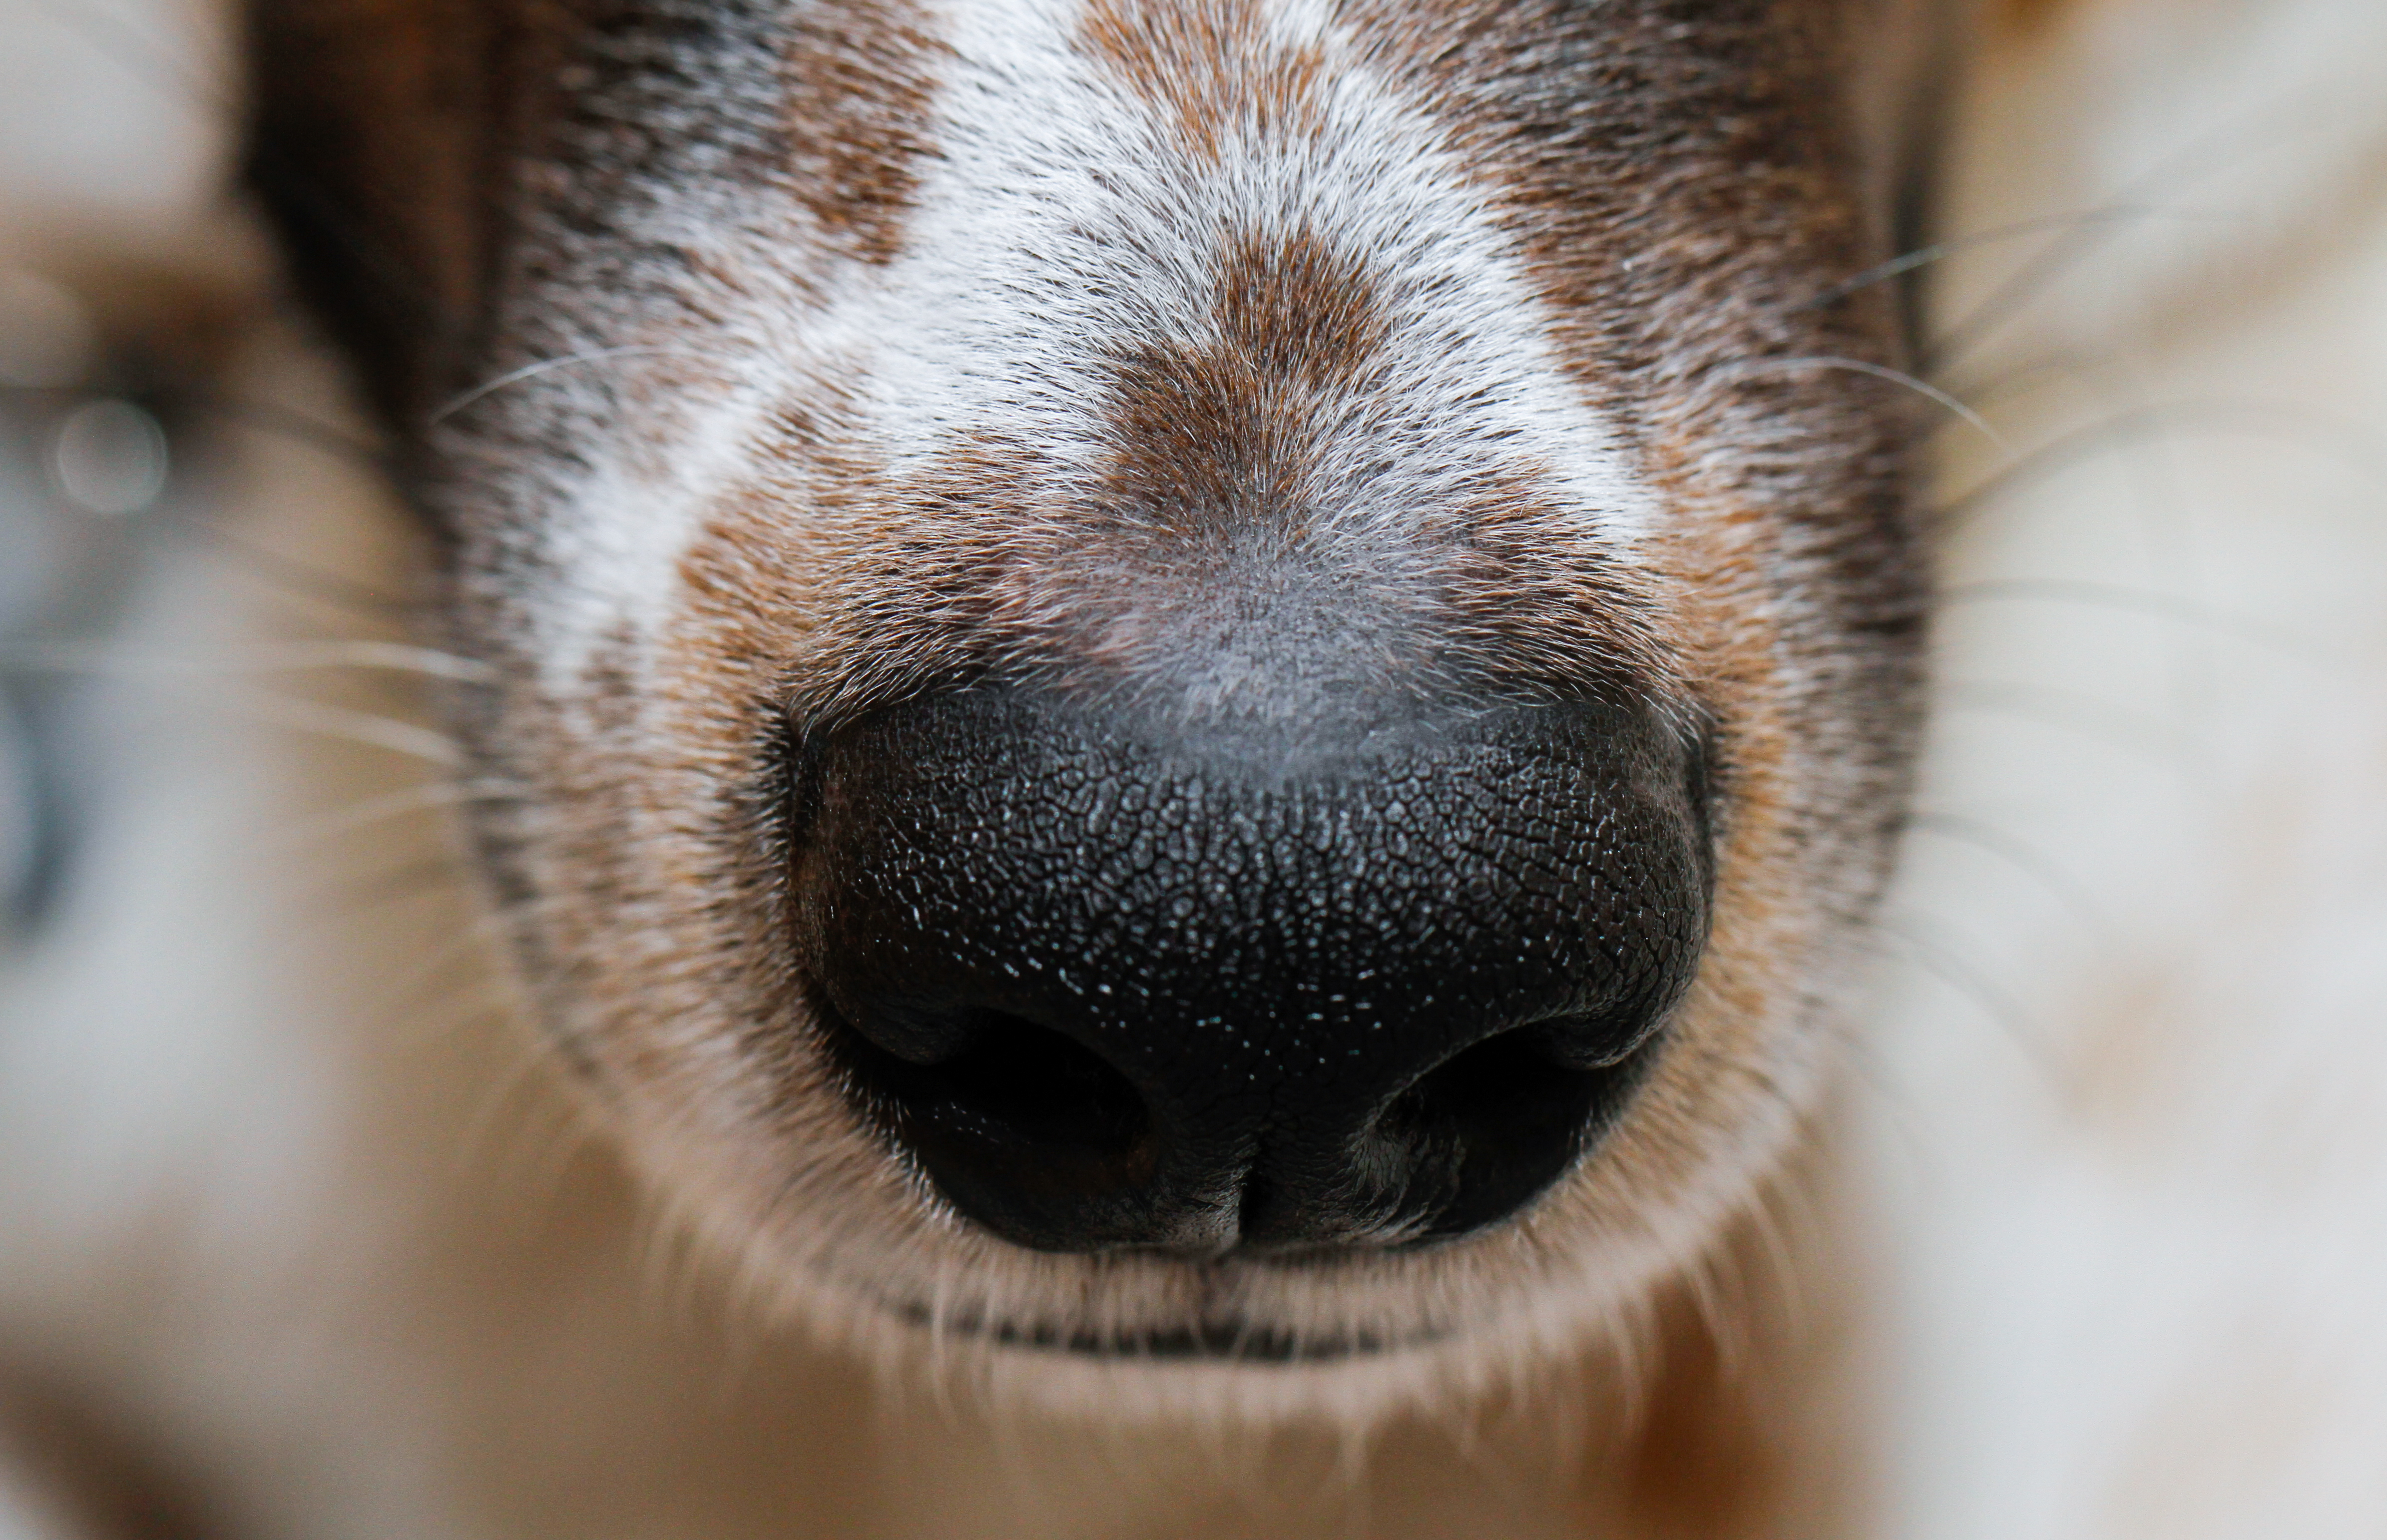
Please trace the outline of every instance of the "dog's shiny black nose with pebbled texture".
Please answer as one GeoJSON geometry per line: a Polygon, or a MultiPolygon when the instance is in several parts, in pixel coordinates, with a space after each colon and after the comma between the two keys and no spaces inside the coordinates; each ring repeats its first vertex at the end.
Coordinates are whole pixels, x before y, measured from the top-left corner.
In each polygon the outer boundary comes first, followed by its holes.
{"type": "Polygon", "coordinates": [[[831,1048],[1041,1251],[1501,1220],[1618,1110],[1707,938],[1697,752],[1645,707],[1184,728],[974,690],[800,781],[831,1048]]]}

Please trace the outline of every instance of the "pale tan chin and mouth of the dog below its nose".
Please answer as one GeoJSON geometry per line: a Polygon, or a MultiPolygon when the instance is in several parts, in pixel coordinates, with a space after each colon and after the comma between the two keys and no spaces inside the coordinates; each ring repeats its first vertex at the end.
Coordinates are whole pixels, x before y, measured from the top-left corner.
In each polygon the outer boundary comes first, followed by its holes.
{"type": "Polygon", "coordinates": [[[1392,1253],[1053,1256],[905,1196],[866,1215],[847,1203],[826,1244],[733,1208],[685,1218],[718,1242],[699,1251],[728,1263],[735,1316],[850,1354],[902,1394],[1160,1423],[1363,1428],[1554,1385],[1599,1361],[1678,1253],[1649,1234],[1585,1256],[1528,1215],[1392,1253]]]}

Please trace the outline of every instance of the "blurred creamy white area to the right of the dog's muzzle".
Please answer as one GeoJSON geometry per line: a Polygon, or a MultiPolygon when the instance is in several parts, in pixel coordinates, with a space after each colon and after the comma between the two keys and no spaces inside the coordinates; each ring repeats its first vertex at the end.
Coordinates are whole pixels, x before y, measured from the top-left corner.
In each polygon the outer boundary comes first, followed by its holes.
{"type": "Polygon", "coordinates": [[[2387,1533],[2380,60],[2373,0],[2053,0],[1957,100],[1898,1533],[2387,1533]]]}

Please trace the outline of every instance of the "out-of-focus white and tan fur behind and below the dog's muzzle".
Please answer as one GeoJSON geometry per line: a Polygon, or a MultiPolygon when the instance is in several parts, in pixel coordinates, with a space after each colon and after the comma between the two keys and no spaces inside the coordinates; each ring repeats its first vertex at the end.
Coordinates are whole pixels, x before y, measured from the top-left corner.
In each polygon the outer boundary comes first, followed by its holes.
{"type": "MultiPolygon", "coordinates": [[[[19,17],[172,98],[119,31],[19,17]]],[[[575,1136],[442,881],[444,747],[406,726],[437,661],[351,587],[396,590],[401,525],[232,435],[184,497],[239,544],[146,590],[110,817],[7,979],[0,1380],[224,1535],[2377,1528],[2382,31],[2072,0],[1972,69],[1938,224],[1996,239],[1933,332],[2003,442],[1948,437],[1864,1136],[1626,1323],[1657,1356],[1365,1433],[1115,1428],[757,1330],[575,1136]]],[[[84,251],[191,229],[212,172],[86,201],[84,251]]],[[[17,186],[12,260],[72,270],[74,189],[17,186]]],[[[332,384],[265,329],[236,392],[315,418],[332,384]]]]}

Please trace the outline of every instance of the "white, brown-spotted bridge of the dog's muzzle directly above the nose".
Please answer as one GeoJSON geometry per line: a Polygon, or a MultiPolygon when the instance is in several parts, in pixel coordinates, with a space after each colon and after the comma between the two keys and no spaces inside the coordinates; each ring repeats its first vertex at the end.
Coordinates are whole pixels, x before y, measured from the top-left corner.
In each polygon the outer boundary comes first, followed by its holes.
{"type": "MultiPolygon", "coordinates": [[[[1432,112],[1392,112],[1406,88],[1384,79],[1384,110],[1341,122],[1361,98],[1322,91],[1318,60],[1279,81],[1284,112],[1225,136],[1182,136],[1186,100],[1153,98],[1182,69],[1275,79],[1275,31],[1184,57],[1174,26],[1072,41],[1098,88],[1046,84],[1105,134],[1060,165],[1134,167],[1067,196],[1046,186],[1053,146],[1012,165],[1000,134],[955,124],[969,155],[933,179],[1000,167],[1005,191],[972,193],[1017,220],[940,224],[933,260],[924,241],[855,291],[857,368],[878,377],[840,430],[859,451],[804,458],[857,513],[807,578],[816,700],[986,659],[1299,702],[1313,664],[1382,690],[1661,652],[1611,602],[1657,587],[1657,494],[1432,112]],[[967,368],[943,368],[955,346],[967,368]]],[[[1349,60],[1353,79],[1377,64],[1349,60]]]]}

